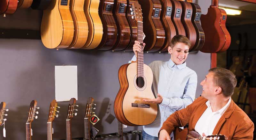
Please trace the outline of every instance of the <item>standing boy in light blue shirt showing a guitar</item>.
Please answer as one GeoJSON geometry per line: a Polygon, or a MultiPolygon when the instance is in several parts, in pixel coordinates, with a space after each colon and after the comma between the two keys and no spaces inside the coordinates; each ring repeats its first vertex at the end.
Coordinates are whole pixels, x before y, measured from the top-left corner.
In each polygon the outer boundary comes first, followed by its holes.
{"type": "MultiPolygon", "coordinates": [[[[143,43],[145,46],[145,43],[143,43]]],[[[190,41],[186,36],[176,35],[172,38],[168,52],[171,58],[168,62],[153,61],[149,67],[153,71],[153,92],[156,99],[144,99],[145,102],[159,104],[156,120],[143,126],[143,140],[158,140],[158,131],[163,122],[176,110],[185,108],[195,99],[197,75],[186,66],[190,41]]],[[[135,41],[133,51],[141,51],[140,44],[135,41]]],[[[136,61],[133,56],[132,61],[136,61]]]]}

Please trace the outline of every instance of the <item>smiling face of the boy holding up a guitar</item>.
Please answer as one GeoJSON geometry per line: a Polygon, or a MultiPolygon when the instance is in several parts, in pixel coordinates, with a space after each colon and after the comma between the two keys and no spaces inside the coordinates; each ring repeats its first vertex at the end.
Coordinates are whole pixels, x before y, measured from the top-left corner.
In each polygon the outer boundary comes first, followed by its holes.
{"type": "Polygon", "coordinates": [[[188,57],[188,45],[177,43],[173,48],[168,47],[168,52],[171,54],[171,59],[176,65],[184,63],[188,57]]]}

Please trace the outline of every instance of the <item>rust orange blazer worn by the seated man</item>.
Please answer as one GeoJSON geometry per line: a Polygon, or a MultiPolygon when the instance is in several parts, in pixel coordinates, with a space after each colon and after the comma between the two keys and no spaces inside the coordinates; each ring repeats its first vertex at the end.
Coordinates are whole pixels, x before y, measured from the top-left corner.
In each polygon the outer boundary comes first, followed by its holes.
{"type": "MultiPolygon", "coordinates": [[[[205,104],[206,101],[208,100],[203,97],[199,97],[186,108],[174,112],[167,118],[160,130],[165,129],[169,134],[171,134],[175,127],[182,127],[189,123],[188,130],[195,131],[196,122],[207,108],[205,104]]],[[[228,140],[252,140],[253,130],[254,124],[251,119],[231,99],[228,109],[216,124],[213,130],[213,135],[225,135],[228,137],[228,140]]]]}

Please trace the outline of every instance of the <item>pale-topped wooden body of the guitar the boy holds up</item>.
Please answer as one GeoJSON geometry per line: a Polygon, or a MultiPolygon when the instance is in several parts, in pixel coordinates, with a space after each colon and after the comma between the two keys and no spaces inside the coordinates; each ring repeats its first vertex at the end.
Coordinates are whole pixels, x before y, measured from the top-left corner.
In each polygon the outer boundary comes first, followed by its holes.
{"type": "Polygon", "coordinates": [[[149,108],[132,107],[132,103],[142,103],[142,99],[154,99],[155,96],[151,90],[153,82],[153,73],[150,67],[144,64],[144,81],[143,87],[136,84],[137,63],[124,64],[118,71],[120,90],[116,95],[114,110],[119,122],[129,125],[148,125],[156,119],[157,105],[148,104],[149,108]],[[142,97],[143,95],[143,97],[142,97]]]}

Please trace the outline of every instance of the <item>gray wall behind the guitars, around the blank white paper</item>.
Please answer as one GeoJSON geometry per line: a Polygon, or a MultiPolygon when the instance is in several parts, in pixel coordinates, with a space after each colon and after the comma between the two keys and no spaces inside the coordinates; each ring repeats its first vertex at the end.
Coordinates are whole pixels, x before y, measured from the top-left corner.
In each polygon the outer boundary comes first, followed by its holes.
{"type": "MultiPolygon", "coordinates": [[[[195,1],[197,3],[197,1],[195,1]]],[[[203,14],[207,13],[210,1],[201,0],[203,14]]],[[[14,15],[0,17],[0,28],[40,29],[41,11],[18,9],[14,15]]],[[[77,65],[78,72],[78,115],[72,119],[72,136],[82,137],[84,133],[83,118],[85,103],[89,97],[95,99],[96,114],[100,122],[95,128],[100,134],[115,133],[116,119],[108,123],[106,119],[114,114],[114,100],[119,90],[118,69],[127,63],[133,52],[112,52],[97,50],[68,50],[45,48],[41,40],[0,39],[0,101],[7,103],[9,109],[6,121],[6,138],[0,139],[23,140],[26,137],[25,123],[31,100],[36,99],[40,107],[38,119],[32,123],[33,139],[46,139],[46,122],[49,104],[55,98],[54,66],[77,65]]],[[[168,61],[167,53],[145,54],[145,63],[154,60],[168,61]]],[[[210,54],[202,52],[190,53],[187,66],[196,71],[198,85],[196,97],[201,94],[200,82],[210,68],[210,54]]],[[[53,122],[53,139],[65,139],[65,120],[68,102],[59,102],[59,118],[53,122]]],[[[128,127],[128,130],[141,130],[141,127],[128,127]]]]}

